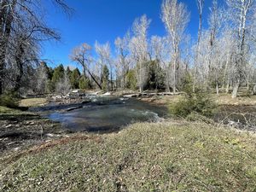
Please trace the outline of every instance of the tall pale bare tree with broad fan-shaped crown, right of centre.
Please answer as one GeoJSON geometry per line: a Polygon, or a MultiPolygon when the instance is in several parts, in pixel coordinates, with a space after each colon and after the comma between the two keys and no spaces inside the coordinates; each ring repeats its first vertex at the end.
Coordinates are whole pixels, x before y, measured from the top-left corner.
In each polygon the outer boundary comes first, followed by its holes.
{"type": "MultiPolygon", "coordinates": [[[[172,67],[172,90],[176,92],[177,86],[177,70],[179,69],[180,61],[180,45],[183,39],[183,33],[189,22],[189,12],[183,3],[177,3],[177,0],[164,0],[161,6],[161,19],[166,26],[168,38],[170,38],[170,45],[172,46],[172,64],[170,62],[169,68],[172,67]]],[[[170,88],[167,87],[170,91],[170,88]]]]}

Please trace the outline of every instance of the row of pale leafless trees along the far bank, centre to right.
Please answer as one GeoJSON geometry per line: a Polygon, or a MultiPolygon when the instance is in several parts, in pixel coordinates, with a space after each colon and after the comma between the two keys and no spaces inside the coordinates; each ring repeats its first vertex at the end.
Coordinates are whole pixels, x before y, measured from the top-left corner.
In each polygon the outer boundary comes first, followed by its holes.
{"type": "Polygon", "coordinates": [[[232,97],[236,97],[239,87],[246,86],[255,94],[255,1],[226,0],[219,6],[213,0],[208,18],[202,17],[208,9],[205,1],[195,3],[199,13],[196,39],[186,30],[190,17],[186,5],[164,0],[160,18],[166,36],[148,37],[151,20],[143,15],[123,38],[115,39],[114,53],[109,43],[96,42],[93,58],[93,47],[84,43],[73,49],[72,61],[79,63],[100,89],[99,77],[107,66],[111,90],[115,84],[122,89],[176,92],[183,90],[189,76],[194,90],[215,90],[217,94],[220,90],[232,91],[232,97]],[[204,20],[207,27],[203,27],[204,20]]]}

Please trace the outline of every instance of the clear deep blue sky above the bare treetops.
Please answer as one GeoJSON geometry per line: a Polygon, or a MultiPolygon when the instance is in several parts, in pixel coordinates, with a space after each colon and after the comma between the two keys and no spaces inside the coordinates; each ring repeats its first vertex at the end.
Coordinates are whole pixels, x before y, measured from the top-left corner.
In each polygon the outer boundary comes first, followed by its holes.
{"type": "MultiPolygon", "coordinates": [[[[198,29],[198,13],[195,0],[181,0],[190,12],[188,32],[192,38],[196,37],[198,29]]],[[[165,27],[160,20],[161,0],[67,0],[67,4],[74,9],[73,16],[68,19],[60,10],[53,9],[47,15],[49,26],[61,33],[61,42],[44,43],[42,59],[49,59],[51,67],[60,63],[65,66],[75,66],[69,60],[73,47],[87,43],[94,45],[97,40],[104,44],[110,42],[113,48],[115,38],[123,37],[125,32],[137,17],[146,14],[152,20],[149,35],[166,34],[165,27]]],[[[207,14],[212,0],[206,0],[204,26],[207,25],[207,14]]]]}

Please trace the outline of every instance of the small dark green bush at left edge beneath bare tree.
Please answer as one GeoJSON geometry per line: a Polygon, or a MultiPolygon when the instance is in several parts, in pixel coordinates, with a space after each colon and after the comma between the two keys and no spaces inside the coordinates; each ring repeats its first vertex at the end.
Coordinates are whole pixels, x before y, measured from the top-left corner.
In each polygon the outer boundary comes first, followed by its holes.
{"type": "Polygon", "coordinates": [[[7,91],[0,96],[0,106],[7,108],[18,108],[18,94],[14,91],[7,91]]]}

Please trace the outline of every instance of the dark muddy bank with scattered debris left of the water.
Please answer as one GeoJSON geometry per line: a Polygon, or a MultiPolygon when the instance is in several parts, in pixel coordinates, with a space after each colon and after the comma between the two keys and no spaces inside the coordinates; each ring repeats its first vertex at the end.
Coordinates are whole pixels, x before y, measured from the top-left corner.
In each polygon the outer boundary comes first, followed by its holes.
{"type": "Polygon", "coordinates": [[[67,131],[60,124],[36,114],[0,114],[0,154],[20,151],[66,135],[67,131]]]}

